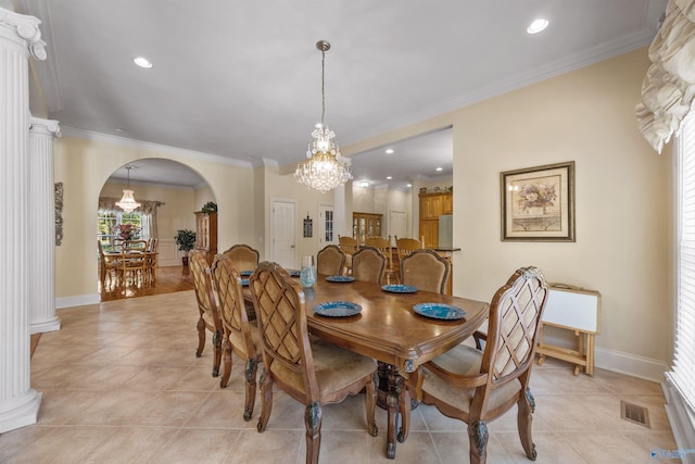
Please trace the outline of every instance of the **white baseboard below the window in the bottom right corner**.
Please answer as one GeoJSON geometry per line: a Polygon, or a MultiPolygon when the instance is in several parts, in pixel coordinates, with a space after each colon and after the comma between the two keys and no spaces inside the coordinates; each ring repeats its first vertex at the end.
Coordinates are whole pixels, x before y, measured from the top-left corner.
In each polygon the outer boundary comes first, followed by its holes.
{"type": "Polygon", "coordinates": [[[678,446],[678,450],[667,451],[678,453],[678,457],[685,464],[695,464],[695,411],[690,409],[668,376],[661,388],[666,397],[666,415],[678,446]]]}

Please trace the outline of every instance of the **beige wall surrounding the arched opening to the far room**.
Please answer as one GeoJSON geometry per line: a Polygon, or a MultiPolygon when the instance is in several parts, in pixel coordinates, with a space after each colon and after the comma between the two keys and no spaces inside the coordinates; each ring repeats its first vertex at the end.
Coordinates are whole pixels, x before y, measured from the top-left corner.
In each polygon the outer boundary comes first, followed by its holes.
{"type": "MultiPolygon", "coordinates": [[[[63,242],[55,247],[55,296],[60,299],[79,299],[97,294],[96,214],[99,192],[104,183],[128,162],[143,158],[166,158],[197,171],[210,185],[210,193],[193,197],[184,206],[172,208],[170,226],[175,229],[195,227],[193,211],[200,210],[201,200],[216,198],[219,248],[253,238],[248,225],[248,211],[253,209],[253,176],[250,167],[207,161],[210,156],[193,158],[165,148],[142,148],[110,143],[108,140],[85,140],[75,137],[56,139],[53,146],[54,180],[64,186],[63,242]],[[205,160],[205,161],[201,161],[205,160]],[[245,196],[245,198],[244,198],[245,196]],[[244,198],[243,202],[238,201],[244,198]]],[[[164,208],[164,206],[163,206],[164,208]]]]}

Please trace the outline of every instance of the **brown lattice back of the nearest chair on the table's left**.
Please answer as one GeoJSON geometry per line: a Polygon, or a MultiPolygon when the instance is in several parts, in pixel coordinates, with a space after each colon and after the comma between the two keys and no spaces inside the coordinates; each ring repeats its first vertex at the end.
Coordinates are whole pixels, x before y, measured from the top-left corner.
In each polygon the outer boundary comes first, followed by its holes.
{"type": "Polygon", "coordinates": [[[263,262],[250,279],[256,316],[261,324],[264,361],[269,368],[273,361],[286,367],[303,371],[303,333],[306,330],[304,293],[277,263],[263,262]],[[293,284],[298,288],[293,288],[293,284]],[[265,360],[265,355],[273,360],[265,360]]]}

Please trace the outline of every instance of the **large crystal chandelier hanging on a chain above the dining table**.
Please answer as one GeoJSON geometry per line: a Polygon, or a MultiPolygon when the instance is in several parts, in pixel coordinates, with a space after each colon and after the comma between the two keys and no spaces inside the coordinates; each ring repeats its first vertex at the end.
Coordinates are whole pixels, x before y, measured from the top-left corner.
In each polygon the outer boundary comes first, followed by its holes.
{"type": "Polygon", "coordinates": [[[340,155],[340,148],[333,141],[336,133],[324,124],[326,114],[326,87],[325,63],[326,51],[330,50],[330,43],[326,40],[316,42],[316,48],[321,51],[321,122],[314,126],[312,140],[308,142],[306,158],[294,172],[294,177],[300,184],[321,193],[332,190],[352,179],[352,173],[346,160],[340,155]]]}

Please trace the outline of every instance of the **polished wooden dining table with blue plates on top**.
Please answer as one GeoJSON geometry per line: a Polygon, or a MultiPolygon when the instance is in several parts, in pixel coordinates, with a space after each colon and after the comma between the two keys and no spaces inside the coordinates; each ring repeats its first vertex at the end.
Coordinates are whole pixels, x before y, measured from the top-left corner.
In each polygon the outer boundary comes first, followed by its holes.
{"type": "Polygon", "coordinates": [[[331,283],[318,275],[313,288],[304,289],[309,331],[332,343],[380,363],[380,384],[387,397],[387,456],[395,457],[397,441],[409,430],[410,398],[405,386],[408,373],[470,337],[485,321],[489,304],[466,298],[416,291],[390,292],[366,281],[331,283]],[[346,301],[362,306],[358,314],[330,317],[316,314],[318,303],[346,301]],[[458,319],[438,319],[417,314],[418,303],[448,304],[463,309],[458,319]],[[396,431],[397,416],[401,428],[396,431]]]}

